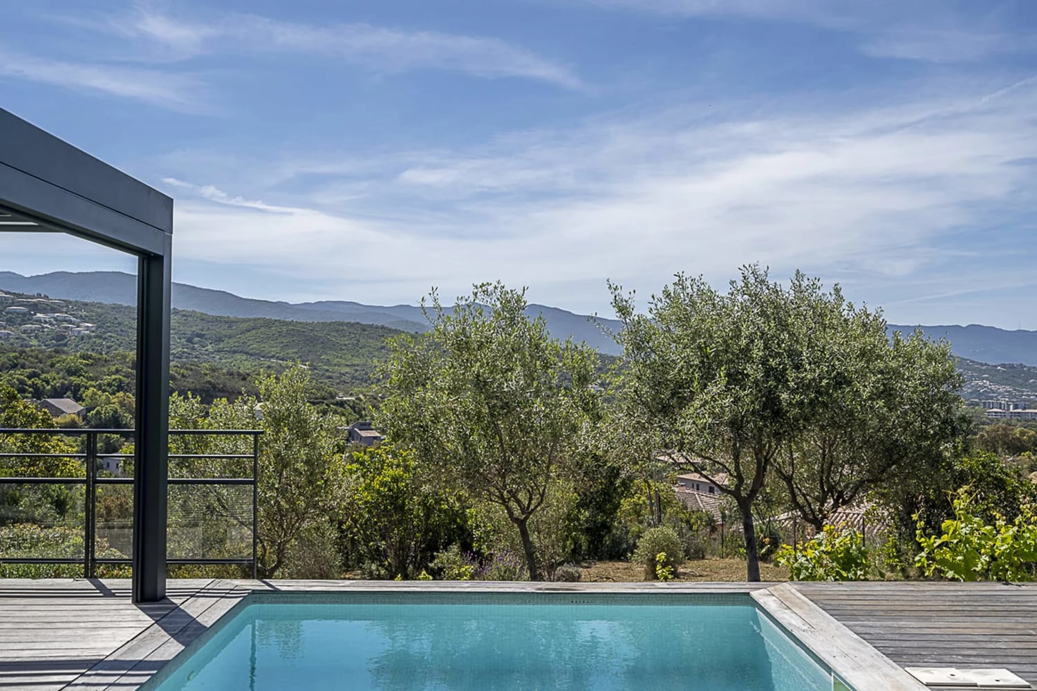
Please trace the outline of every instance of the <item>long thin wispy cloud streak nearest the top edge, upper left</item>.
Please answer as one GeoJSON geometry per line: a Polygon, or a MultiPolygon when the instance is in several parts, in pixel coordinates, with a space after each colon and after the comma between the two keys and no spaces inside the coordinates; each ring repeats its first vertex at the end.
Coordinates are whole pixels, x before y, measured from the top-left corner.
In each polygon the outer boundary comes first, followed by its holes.
{"type": "Polygon", "coordinates": [[[185,18],[147,3],[139,3],[129,15],[88,25],[138,42],[137,55],[145,58],[318,55],[387,74],[442,69],[489,79],[530,79],[565,89],[586,88],[568,67],[495,37],[360,23],[316,26],[256,15],[185,18]]]}

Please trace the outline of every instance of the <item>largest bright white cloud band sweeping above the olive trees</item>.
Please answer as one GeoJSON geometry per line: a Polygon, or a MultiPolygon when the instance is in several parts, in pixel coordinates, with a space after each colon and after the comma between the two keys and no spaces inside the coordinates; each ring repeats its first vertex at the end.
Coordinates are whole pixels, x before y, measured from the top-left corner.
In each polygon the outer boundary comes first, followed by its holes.
{"type": "MultiPolygon", "coordinates": [[[[284,267],[310,277],[300,291],[369,301],[500,278],[591,310],[606,277],[652,289],[676,270],[723,280],[748,261],[872,290],[960,262],[949,235],[1037,208],[1032,171],[1013,164],[1037,156],[1035,107],[1037,89],[1019,82],[881,109],[758,119],[675,110],[397,152],[347,200],[311,189],[309,202],[292,196],[309,208],[289,214],[196,188],[177,201],[177,252],[284,267]]],[[[290,162],[270,157],[284,179],[290,162]]],[[[256,184],[246,197],[277,203],[278,185],[256,184]]]]}

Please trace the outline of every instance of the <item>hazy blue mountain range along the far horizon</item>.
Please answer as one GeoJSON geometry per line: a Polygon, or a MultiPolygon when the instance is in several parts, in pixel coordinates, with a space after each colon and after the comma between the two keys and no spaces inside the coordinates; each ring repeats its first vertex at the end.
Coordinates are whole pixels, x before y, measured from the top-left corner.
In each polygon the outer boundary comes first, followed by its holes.
{"type": "MultiPolygon", "coordinates": [[[[0,290],[20,293],[44,293],[51,297],[134,305],[137,279],[120,271],[56,271],[39,276],[22,276],[0,271],[0,290]]],[[[376,306],[346,300],[317,303],[283,303],[241,297],[223,290],[199,288],[184,283],[173,284],[173,307],[227,317],[269,317],[288,321],[355,321],[377,324],[407,332],[427,327],[421,309],[413,305],[376,306]]],[[[586,341],[602,353],[617,354],[616,344],[602,334],[585,315],[543,305],[530,305],[528,312],[542,314],[548,329],[556,337],[571,336],[586,341]]],[[[615,319],[599,319],[615,330],[615,319]]],[[[890,324],[891,330],[912,332],[915,326],[890,324]]],[[[982,363],[1021,363],[1037,366],[1037,332],[1005,330],[993,326],[919,326],[931,338],[946,338],[954,353],[982,363]]]]}

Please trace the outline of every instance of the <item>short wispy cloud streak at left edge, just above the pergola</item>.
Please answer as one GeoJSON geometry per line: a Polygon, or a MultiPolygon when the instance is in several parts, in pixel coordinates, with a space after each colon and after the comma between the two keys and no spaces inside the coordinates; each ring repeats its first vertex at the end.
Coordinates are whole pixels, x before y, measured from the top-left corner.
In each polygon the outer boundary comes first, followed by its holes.
{"type": "Polygon", "coordinates": [[[123,65],[48,60],[0,49],[0,76],[101,92],[188,113],[211,110],[202,95],[203,86],[186,75],[123,65]]]}

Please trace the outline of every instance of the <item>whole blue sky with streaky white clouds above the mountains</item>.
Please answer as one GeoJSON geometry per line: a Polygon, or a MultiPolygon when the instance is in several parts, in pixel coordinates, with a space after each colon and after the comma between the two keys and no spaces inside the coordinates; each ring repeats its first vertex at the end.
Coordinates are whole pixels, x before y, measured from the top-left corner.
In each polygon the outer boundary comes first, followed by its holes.
{"type": "MultiPolygon", "coordinates": [[[[0,105],[176,199],[174,279],[272,299],[675,271],[1037,328],[1037,2],[34,0],[0,105]]],[[[132,263],[0,237],[0,269],[132,263]]]]}

